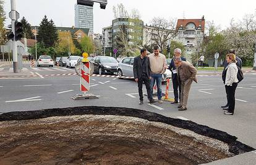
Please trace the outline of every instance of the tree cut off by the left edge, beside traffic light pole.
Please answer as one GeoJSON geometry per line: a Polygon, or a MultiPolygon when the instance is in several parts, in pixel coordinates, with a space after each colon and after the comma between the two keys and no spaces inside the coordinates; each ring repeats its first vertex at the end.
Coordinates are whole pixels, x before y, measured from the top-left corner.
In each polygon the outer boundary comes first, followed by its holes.
{"type": "Polygon", "coordinates": [[[6,28],[4,28],[5,20],[6,13],[4,12],[4,1],[0,0],[0,44],[6,42],[6,28]]]}

